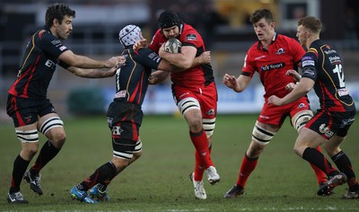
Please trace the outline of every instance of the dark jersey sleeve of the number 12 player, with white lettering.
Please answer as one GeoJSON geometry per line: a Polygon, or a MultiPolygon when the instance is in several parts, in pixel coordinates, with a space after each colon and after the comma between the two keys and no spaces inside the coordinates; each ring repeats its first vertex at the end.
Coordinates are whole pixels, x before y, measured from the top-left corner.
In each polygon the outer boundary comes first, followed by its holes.
{"type": "Polygon", "coordinates": [[[318,76],[317,59],[317,55],[311,50],[302,57],[302,77],[316,81],[318,76]]]}

